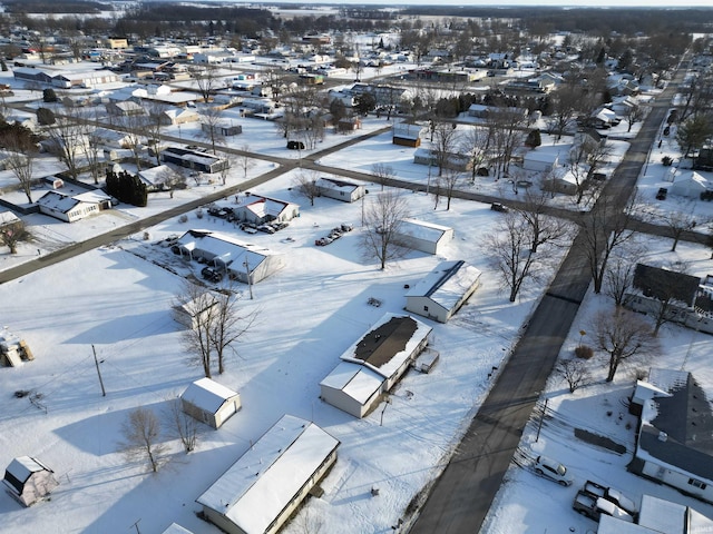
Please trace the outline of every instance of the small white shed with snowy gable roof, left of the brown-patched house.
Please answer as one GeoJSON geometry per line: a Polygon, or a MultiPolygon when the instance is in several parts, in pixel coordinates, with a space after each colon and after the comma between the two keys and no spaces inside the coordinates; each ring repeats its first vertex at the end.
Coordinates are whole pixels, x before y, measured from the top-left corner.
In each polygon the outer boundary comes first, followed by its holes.
{"type": "Polygon", "coordinates": [[[180,395],[183,411],[213,428],[219,428],[241,409],[241,396],[211,378],[191,384],[180,395]]]}

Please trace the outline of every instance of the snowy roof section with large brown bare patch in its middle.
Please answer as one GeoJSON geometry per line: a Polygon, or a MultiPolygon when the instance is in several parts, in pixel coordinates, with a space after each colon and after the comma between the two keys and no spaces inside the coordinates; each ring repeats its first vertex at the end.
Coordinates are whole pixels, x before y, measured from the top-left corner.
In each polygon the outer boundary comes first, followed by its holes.
{"type": "Polygon", "coordinates": [[[384,314],[374,326],[341,356],[391,378],[432,328],[410,315],[384,314]]]}

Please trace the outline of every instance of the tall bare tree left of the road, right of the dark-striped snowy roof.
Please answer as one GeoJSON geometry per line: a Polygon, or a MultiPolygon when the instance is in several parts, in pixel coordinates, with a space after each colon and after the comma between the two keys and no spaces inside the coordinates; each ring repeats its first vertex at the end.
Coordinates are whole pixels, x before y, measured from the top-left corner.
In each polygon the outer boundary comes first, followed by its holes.
{"type": "Polygon", "coordinates": [[[485,239],[485,249],[515,301],[525,280],[537,277],[538,260],[531,251],[531,227],[516,212],[504,214],[497,230],[485,239]]]}

